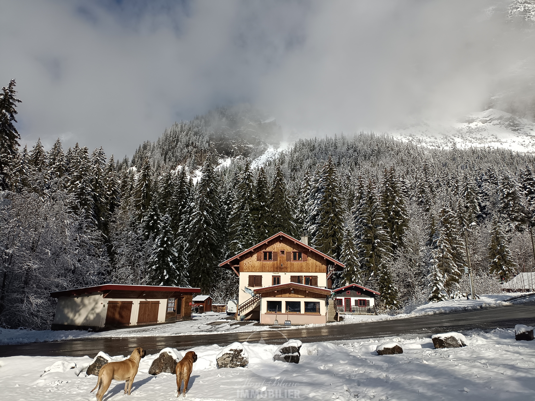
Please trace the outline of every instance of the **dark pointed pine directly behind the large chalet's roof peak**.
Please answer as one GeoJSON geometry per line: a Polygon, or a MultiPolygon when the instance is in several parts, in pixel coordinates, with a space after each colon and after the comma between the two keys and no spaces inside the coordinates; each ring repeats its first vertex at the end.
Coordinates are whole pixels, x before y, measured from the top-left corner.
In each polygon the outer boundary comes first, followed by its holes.
{"type": "Polygon", "coordinates": [[[286,181],[282,169],[277,163],[273,171],[270,190],[270,220],[268,236],[283,232],[295,234],[293,207],[287,193],[286,181]]]}

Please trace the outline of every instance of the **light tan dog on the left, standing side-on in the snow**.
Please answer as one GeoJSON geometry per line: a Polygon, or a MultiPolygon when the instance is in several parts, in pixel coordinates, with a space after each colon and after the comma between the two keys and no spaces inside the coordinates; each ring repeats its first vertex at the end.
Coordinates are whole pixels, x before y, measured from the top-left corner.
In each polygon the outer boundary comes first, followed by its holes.
{"type": "MultiPolygon", "coordinates": [[[[126,380],[125,382],[125,394],[130,395],[132,390],[132,383],[134,377],[137,374],[139,363],[141,358],[146,356],[147,352],[143,351],[143,348],[138,347],[134,349],[131,356],[128,359],[121,360],[119,362],[109,362],[101,367],[98,371],[98,380],[95,389],[98,387],[97,400],[102,401],[104,393],[108,391],[111,380],[126,380]],[[127,391],[128,389],[128,391],[127,391]]],[[[90,392],[95,391],[95,389],[90,392]]]]}

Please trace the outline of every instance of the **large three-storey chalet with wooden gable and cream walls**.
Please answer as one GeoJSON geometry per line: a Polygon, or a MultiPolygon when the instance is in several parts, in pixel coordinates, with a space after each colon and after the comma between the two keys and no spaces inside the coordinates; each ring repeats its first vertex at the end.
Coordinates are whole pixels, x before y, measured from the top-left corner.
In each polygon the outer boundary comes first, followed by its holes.
{"type": "Polygon", "coordinates": [[[307,325],[334,319],[327,273],[343,269],[338,260],[278,233],[219,265],[240,278],[236,319],[275,320],[307,325]]]}

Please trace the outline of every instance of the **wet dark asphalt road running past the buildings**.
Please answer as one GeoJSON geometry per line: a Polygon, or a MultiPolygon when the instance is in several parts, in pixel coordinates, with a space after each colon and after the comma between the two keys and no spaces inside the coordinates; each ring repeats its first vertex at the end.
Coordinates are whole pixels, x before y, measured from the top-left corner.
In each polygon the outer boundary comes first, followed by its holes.
{"type": "Polygon", "coordinates": [[[297,329],[252,331],[245,333],[220,333],[205,335],[93,338],[49,343],[1,345],[0,356],[90,356],[98,351],[111,355],[132,352],[141,346],[147,353],[172,347],[179,350],[201,345],[228,345],[235,341],[249,343],[265,342],[282,344],[287,338],[303,342],[348,341],[357,338],[375,338],[392,335],[418,334],[429,336],[446,331],[467,331],[473,329],[511,328],[517,324],[533,326],[535,303],[499,306],[476,311],[450,312],[426,315],[408,319],[371,321],[364,323],[327,325],[297,329]]]}

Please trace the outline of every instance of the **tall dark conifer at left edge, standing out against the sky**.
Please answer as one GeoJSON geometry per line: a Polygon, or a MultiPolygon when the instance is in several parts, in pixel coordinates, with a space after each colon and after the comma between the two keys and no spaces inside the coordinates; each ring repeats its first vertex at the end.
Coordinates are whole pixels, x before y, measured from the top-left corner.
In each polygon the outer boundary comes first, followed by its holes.
{"type": "Polygon", "coordinates": [[[21,103],[16,98],[15,80],[12,79],[7,87],[2,87],[0,92],[0,190],[6,190],[9,187],[7,182],[8,170],[10,164],[13,164],[13,158],[17,155],[20,134],[13,122],[17,122],[17,103],[21,103]]]}

